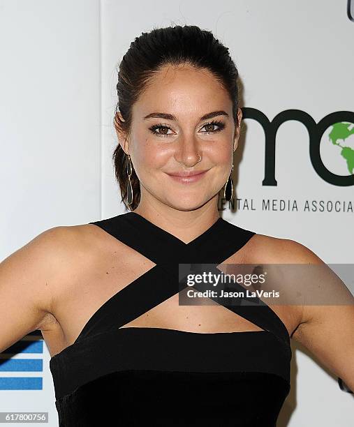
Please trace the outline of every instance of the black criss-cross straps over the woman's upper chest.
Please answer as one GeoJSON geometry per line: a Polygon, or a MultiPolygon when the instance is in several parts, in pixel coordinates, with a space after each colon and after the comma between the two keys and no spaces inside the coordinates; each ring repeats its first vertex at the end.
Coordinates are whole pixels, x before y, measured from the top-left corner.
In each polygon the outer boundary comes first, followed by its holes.
{"type": "MultiPolygon", "coordinates": [[[[222,264],[256,234],[219,218],[199,237],[186,244],[134,212],[90,224],[98,225],[156,265],[105,301],[85,324],[75,343],[103,331],[120,328],[180,292],[183,286],[179,283],[179,264],[222,264]]],[[[211,268],[220,274],[216,267],[211,268]]],[[[272,332],[288,346],[290,338],[285,324],[267,304],[260,299],[256,302],[256,305],[243,305],[242,301],[233,305],[218,301],[218,304],[272,332]]]]}

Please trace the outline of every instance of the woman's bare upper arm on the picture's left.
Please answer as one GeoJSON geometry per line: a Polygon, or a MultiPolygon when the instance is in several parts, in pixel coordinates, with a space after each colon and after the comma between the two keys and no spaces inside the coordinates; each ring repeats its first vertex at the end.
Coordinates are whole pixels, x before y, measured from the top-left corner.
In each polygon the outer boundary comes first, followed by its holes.
{"type": "Polygon", "coordinates": [[[51,313],[67,228],[42,232],[0,263],[0,352],[40,329],[51,313]]]}

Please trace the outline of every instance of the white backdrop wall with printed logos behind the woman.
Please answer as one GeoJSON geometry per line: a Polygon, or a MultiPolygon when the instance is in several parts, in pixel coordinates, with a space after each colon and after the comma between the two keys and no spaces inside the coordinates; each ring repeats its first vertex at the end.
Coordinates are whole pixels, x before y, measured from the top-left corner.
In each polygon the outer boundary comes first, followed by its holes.
{"type": "MultiPolygon", "coordinates": [[[[47,228],[124,212],[111,161],[115,68],[142,31],[170,24],[213,31],[239,69],[242,107],[270,121],[285,110],[302,110],[318,123],[354,110],[354,22],[346,8],[346,0],[0,1],[1,259],[47,228]]],[[[325,167],[354,174],[341,147],[330,142],[331,130],[320,144],[325,167]]],[[[339,142],[354,149],[354,135],[339,142]]],[[[300,241],[327,264],[353,264],[354,186],[334,185],[316,173],[300,121],[286,121],[276,133],[277,186],[263,186],[265,133],[253,119],[244,119],[237,163],[239,209],[224,205],[223,218],[300,241]],[[262,209],[263,200],[277,208],[262,209]],[[321,200],[339,201],[341,209],[312,211],[311,203],[321,200]],[[297,210],[288,210],[288,201],[297,210]]],[[[292,347],[291,391],[278,426],[353,426],[353,395],[341,391],[337,377],[306,349],[292,347]]],[[[10,356],[39,359],[39,368],[0,370],[0,412],[49,412],[49,425],[57,426],[45,344],[43,352],[10,356]],[[18,380],[23,377],[39,379],[28,382],[38,389],[26,389],[18,380]],[[9,389],[14,384],[22,389],[9,389]]]]}

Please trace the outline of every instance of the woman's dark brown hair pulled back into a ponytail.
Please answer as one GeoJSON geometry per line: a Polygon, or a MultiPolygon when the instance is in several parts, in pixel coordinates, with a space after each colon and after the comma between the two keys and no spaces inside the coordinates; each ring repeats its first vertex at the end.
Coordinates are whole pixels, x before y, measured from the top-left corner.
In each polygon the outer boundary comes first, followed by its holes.
{"type": "MultiPolygon", "coordinates": [[[[154,28],[142,33],[131,43],[128,51],[119,63],[117,95],[114,124],[120,135],[128,137],[131,131],[132,107],[140,93],[147,87],[149,80],[165,65],[189,65],[208,70],[228,91],[233,102],[233,119],[237,123],[239,93],[237,87],[238,72],[228,52],[211,31],[202,30],[196,25],[154,28]],[[117,114],[120,112],[122,121],[117,114]]],[[[140,183],[133,169],[131,183],[133,203],[126,201],[128,175],[126,165],[128,156],[120,144],[117,144],[112,156],[115,177],[121,190],[121,201],[132,211],[140,202],[140,183]]]]}

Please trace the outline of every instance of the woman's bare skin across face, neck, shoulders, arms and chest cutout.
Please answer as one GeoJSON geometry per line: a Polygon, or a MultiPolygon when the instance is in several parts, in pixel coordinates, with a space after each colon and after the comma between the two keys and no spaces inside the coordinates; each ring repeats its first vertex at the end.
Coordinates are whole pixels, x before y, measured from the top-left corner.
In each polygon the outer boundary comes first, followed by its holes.
{"type": "MultiPolygon", "coordinates": [[[[240,109],[237,117],[240,123],[240,109]]],[[[219,218],[218,193],[231,171],[239,126],[228,93],[210,73],[187,66],[161,69],[133,106],[130,133],[117,136],[140,180],[141,202],[135,212],[185,243],[219,218]],[[213,133],[218,126],[205,127],[210,119],[200,117],[215,111],[227,116],[214,117],[225,128],[213,133]],[[152,112],[173,114],[175,119],[144,119],[152,112]],[[168,126],[156,130],[167,137],[149,130],[158,123],[168,126]],[[205,169],[205,177],[187,185],[166,175],[205,169]]],[[[263,234],[253,236],[225,262],[324,264],[296,241],[263,234]]],[[[59,353],[73,344],[105,301],[153,266],[96,225],[45,230],[0,264],[0,352],[40,329],[50,354],[59,353]]],[[[272,309],[291,338],[354,390],[354,304],[272,309]]],[[[223,306],[179,306],[177,295],[124,327],[200,333],[260,330],[223,306]]]]}

